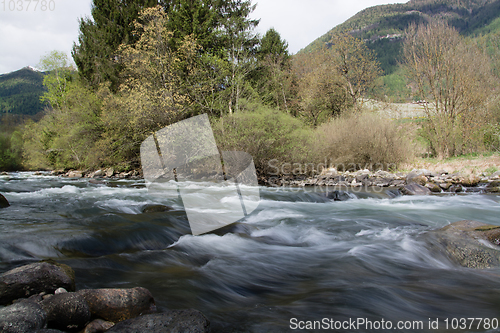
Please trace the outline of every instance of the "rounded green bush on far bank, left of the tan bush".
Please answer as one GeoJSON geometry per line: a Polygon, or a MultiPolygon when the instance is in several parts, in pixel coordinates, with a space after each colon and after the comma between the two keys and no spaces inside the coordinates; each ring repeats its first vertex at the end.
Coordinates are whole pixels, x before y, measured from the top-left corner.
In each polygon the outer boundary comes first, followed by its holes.
{"type": "Polygon", "coordinates": [[[212,123],[219,149],[250,154],[259,176],[282,174],[287,163],[310,157],[312,130],[282,111],[251,105],[212,123]]]}

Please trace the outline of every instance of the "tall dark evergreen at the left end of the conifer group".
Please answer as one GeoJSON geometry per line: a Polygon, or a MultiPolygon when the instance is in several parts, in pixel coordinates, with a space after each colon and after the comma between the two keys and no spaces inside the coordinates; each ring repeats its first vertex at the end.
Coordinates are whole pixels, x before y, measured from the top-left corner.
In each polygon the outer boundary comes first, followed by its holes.
{"type": "Polygon", "coordinates": [[[73,45],[73,59],[78,72],[94,89],[111,82],[112,90],[119,85],[123,69],[115,61],[120,44],[133,44],[133,22],[142,8],[157,5],[157,0],[93,0],[92,19],[80,20],[78,44],[73,45]]]}

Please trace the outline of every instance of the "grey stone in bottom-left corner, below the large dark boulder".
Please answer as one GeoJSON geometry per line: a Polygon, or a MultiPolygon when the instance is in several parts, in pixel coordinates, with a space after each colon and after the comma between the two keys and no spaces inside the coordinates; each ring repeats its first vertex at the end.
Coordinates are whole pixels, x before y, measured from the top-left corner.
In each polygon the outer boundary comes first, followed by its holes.
{"type": "Polygon", "coordinates": [[[47,314],[31,301],[21,301],[0,309],[0,332],[26,333],[46,327],[47,314]]]}

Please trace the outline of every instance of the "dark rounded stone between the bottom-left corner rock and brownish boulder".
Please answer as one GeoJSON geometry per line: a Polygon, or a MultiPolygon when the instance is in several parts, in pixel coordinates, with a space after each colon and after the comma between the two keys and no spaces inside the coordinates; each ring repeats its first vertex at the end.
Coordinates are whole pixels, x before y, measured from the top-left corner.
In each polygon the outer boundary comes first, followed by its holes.
{"type": "Polygon", "coordinates": [[[47,313],[49,328],[79,331],[90,321],[90,308],[85,298],[76,293],[63,293],[44,299],[40,305],[47,313]]]}

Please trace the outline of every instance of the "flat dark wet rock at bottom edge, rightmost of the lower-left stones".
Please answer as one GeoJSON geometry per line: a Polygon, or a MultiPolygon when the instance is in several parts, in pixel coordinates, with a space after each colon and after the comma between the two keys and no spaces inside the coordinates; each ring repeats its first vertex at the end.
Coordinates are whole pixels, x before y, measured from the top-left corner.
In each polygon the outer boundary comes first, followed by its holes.
{"type": "Polygon", "coordinates": [[[197,310],[173,310],[125,320],[106,332],[208,333],[210,322],[197,310]]]}

